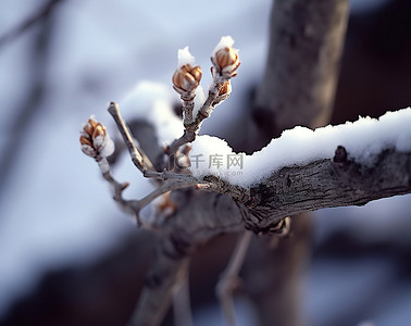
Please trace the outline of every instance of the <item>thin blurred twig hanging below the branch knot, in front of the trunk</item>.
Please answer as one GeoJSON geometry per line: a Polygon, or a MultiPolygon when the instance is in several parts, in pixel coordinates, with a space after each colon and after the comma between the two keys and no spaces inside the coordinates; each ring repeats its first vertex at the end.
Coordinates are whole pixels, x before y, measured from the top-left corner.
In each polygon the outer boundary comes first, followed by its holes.
{"type": "Polygon", "coordinates": [[[244,260],[248,247],[250,244],[252,233],[246,230],[241,238],[238,240],[236,248],[234,249],[233,255],[228,262],[223,276],[220,278],[219,284],[215,288],[216,294],[220,299],[220,303],[225,316],[227,325],[235,326],[235,310],[233,302],[233,290],[238,287],[239,278],[238,273],[242,266],[244,260]]]}

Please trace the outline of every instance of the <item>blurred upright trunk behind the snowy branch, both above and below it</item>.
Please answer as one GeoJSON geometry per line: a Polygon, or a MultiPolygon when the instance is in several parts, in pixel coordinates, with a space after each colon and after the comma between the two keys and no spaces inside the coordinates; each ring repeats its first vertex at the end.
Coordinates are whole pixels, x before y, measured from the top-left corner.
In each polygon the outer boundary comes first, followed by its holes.
{"type": "MultiPolygon", "coordinates": [[[[347,21],[347,0],[274,1],[266,70],[253,108],[259,135],[256,146],[264,146],[296,125],[319,127],[328,123],[347,21]]],[[[291,178],[285,181],[287,187],[289,181],[296,184],[291,178]]],[[[289,190],[287,187],[284,192],[289,190]]],[[[261,199],[266,203],[254,211],[257,217],[250,221],[250,228],[260,225],[266,205],[269,210],[275,205],[265,197],[271,193],[276,198],[274,179],[263,189],[266,192],[261,199]]],[[[303,324],[298,285],[310,251],[310,214],[295,216],[291,230],[294,236],[282,240],[275,250],[269,250],[262,241],[254,241],[251,248],[250,256],[254,259],[249,262],[252,269],[246,278],[252,289],[249,293],[258,303],[261,325],[272,325],[274,321],[278,326],[303,324]]]]}

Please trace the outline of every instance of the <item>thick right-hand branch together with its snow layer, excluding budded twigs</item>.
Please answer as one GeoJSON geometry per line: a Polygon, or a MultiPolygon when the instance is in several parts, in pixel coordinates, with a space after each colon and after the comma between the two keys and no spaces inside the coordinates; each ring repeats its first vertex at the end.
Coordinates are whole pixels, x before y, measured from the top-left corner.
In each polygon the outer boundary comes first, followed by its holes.
{"type": "Polygon", "coordinates": [[[304,211],[411,192],[410,126],[409,108],[379,120],[315,130],[296,127],[252,155],[233,153],[221,139],[199,137],[190,155],[209,156],[211,167],[196,168],[191,162],[190,168],[199,181],[213,184],[215,191],[248,208],[247,228],[269,231],[278,221],[304,211]],[[229,164],[217,168],[216,153],[228,163],[242,160],[242,171],[229,164]]]}

